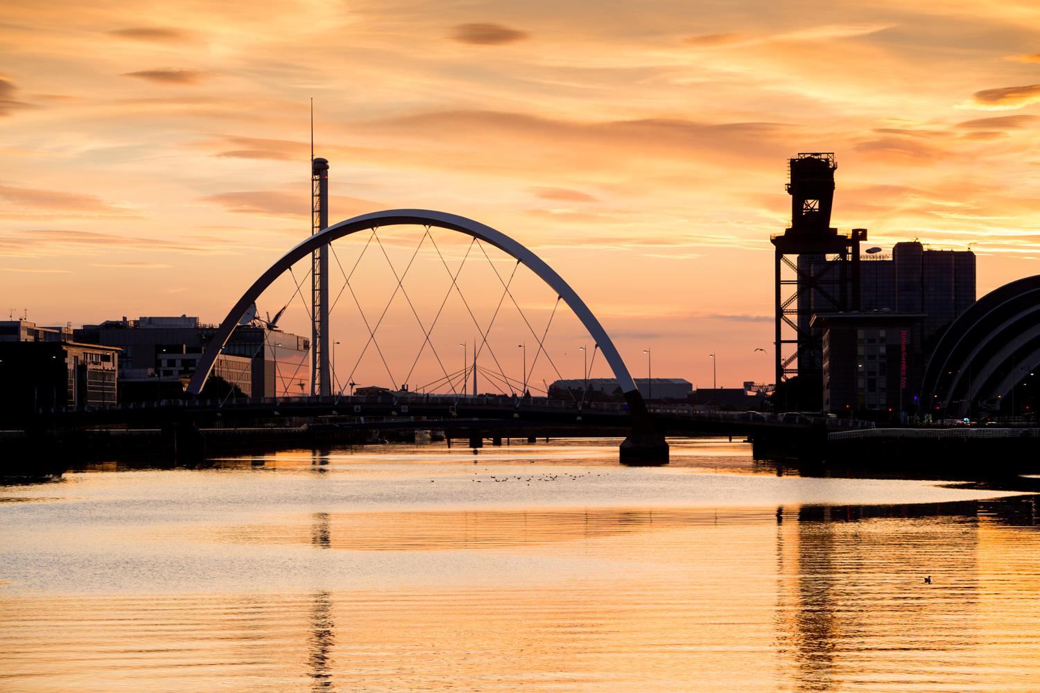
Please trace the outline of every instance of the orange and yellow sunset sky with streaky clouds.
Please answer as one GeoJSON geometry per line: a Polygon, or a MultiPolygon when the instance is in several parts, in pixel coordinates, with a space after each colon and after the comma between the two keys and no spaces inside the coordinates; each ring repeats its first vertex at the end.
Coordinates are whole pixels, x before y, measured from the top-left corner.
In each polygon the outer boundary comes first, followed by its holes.
{"type": "MultiPolygon", "coordinates": [[[[714,351],[720,384],[772,381],[754,349],[772,349],[769,237],[798,152],[835,152],[833,223],[872,245],[970,245],[980,296],[1040,272],[1036,0],[6,0],[0,56],[3,319],[219,322],[310,233],[311,97],[331,221],[428,208],[502,231],[577,290],[638,377],[651,349],[654,376],[710,387],[714,351]]],[[[389,234],[390,256],[407,264],[420,236],[389,234]]],[[[466,244],[443,243],[458,264],[466,244]]],[[[363,245],[344,240],[342,264],[363,245]]],[[[421,256],[406,289],[436,308],[450,284],[421,256]]],[[[500,294],[485,278],[480,320],[500,294]]],[[[361,282],[369,317],[389,282],[361,282]]],[[[540,332],[554,296],[528,284],[540,332]]],[[[343,352],[367,338],[348,308],[343,352]]],[[[474,334],[457,308],[437,327],[452,364],[474,334]]],[[[284,326],[309,335],[295,309],[284,326]]],[[[407,331],[407,303],[393,310],[407,331]]],[[[515,318],[495,327],[505,370],[518,341],[536,348],[515,318]]],[[[395,324],[387,339],[410,339],[395,324]]],[[[554,325],[558,370],[580,377],[580,330],[554,325]]],[[[362,362],[355,379],[385,384],[362,362]]]]}

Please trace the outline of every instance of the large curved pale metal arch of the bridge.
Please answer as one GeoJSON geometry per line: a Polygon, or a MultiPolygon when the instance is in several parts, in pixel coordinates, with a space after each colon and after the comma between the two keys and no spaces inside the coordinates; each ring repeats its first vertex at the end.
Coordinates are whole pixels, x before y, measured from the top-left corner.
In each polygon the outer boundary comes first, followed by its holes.
{"type": "Polygon", "coordinates": [[[584,325],[584,328],[589,330],[589,335],[599,345],[600,351],[603,352],[603,357],[606,359],[607,365],[609,365],[610,370],[614,371],[614,377],[617,378],[621,392],[626,396],[629,393],[638,394],[635,382],[632,381],[632,377],[628,373],[628,368],[621,359],[621,355],[615,348],[614,342],[610,341],[610,337],[603,329],[603,326],[599,324],[599,320],[596,319],[596,316],[592,314],[592,311],[589,310],[589,306],[584,304],[584,301],[581,300],[574,290],[564,282],[563,277],[546,265],[541,258],[505,234],[495,231],[491,226],[457,214],[420,209],[372,212],[371,214],[362,214],[361,216],[340,221],[322,230],[318,234],[310,236],[282,256],[278,262],[261,274],[260,278],[254,282],[253,286],[242,294],[242,297],[238,299],[235,306],[228,313],[228,317],[220,323],[216,335],[213,337],[213,341],[209,343],[209,346],[206,347],[206,352],[199,359],[199,366],[191,376],[191,382],[188,383],[188,394],[198,396],[202,392],[203,385],[206,384],[206,380],[209,378],[210,371],[213,370],[213,365],[216,363],[216,357],[220,353],[220,349],[228,343],[228,339],[238,324],[238,320],[245,314],[245,311],[249,310],[254,301],[260,297],[260,294],[283,272],[289,269],[289,267],[318,247],[328,245],[338,238],[349,236],[359,231],[372,229],[373,226],[402,224],[418,224],[458,231],[490,243],[526,265],[539,278],[549,285],[564,299],[571,311],[574,312],[574,315],[578,317],[578,320],[581,321],[581,324],[584,325]]]}

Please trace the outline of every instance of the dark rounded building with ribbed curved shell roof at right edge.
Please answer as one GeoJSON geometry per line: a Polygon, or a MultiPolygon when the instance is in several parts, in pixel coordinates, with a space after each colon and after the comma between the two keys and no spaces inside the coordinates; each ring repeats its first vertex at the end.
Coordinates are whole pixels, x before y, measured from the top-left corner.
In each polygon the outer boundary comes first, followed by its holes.
{"type": "Polygon", "coordinates": [[[924,403],[964,415],[1040,368],[1040,274],[994,289],[950,325],[925,371],[924,403]]]}

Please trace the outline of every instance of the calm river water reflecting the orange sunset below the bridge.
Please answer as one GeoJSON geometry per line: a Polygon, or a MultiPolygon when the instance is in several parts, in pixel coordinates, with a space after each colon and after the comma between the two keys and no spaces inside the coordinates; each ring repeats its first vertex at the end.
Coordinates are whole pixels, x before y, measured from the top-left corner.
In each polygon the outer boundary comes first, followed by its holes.
{"type": "Polygon", "coordinates": [[[0,485],[0,691],[1040,690],[1038,480],[616,445],[0,485]]]}

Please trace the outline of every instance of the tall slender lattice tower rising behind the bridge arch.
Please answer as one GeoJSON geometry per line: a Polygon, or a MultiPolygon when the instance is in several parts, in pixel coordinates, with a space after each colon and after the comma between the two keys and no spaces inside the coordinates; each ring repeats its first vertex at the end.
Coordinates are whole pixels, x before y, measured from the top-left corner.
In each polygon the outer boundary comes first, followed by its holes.
{"type": "MultiPolygon", "coordinates": [[[[311,160],[311,235],[329,225],[329,161],[311,160]]],[[[332,394],[329,377],[329,246],[311,254],[311,395],[332,394]]]]}

